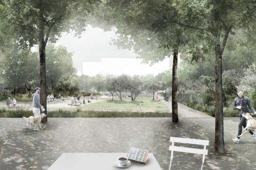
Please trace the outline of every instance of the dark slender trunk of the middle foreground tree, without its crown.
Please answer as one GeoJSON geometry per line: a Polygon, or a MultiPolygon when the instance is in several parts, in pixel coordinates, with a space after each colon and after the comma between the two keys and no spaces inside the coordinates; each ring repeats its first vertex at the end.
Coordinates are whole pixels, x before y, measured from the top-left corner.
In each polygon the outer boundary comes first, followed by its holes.
{"type": "Polygon", "coordinates": [[[179,45],[173,48],[172,64],[172,122],[179,122],[178,117],[178,54],[179,45]]]}

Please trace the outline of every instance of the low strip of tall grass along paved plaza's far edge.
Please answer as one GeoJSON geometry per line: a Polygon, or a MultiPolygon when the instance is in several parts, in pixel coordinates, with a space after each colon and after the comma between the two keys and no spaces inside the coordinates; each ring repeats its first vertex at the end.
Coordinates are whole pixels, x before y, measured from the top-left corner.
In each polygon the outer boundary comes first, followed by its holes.
{"type": "MultiPolygon", "coordinates": [[[[0,117],[29,117],[33,115],[32,111],[26,109],[0,109],[0,117]]],[[[113,112],[113,111],[66,111],[59,109],[58,111],[49,111],[48,117],[171,117],[171,113],[167,112],[113,112]]]]}

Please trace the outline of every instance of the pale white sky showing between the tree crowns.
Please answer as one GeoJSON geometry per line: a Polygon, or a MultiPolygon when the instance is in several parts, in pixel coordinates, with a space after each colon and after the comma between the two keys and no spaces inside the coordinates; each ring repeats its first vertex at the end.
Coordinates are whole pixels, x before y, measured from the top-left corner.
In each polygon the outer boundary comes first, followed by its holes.
{"type": "Polygon", "coordinates": [[[169,60],[164,60],[163,62],[153,65],[154,68],[161,67],[162,69],[153,69],[153,67],[146,64],[140,65],[141,59],[135,59],[135,57],[138,56],[137,54],[133,53],[131,50],[118,49],[117,46],[111,45],[111,39],[113,38],[116,38],[114,30],[103,31],[103,29],[93,28],[91,25],[88,25],[86,31],[82,33],[81,38],[75,37],[73,33],[63,33],[57,44],[65,46],[69,52],[73,52],[73,65],[78,71],[78,75],[84,73],[91,76],[97,73],[107,74],[108,72],[117,72],[117,75],[122,73],[130,73],[130,75],[133,75],[138,74],[138,72],[140,72],[140,75],[145,75],[147,73],[156,75],[157,73],[169,69],[169,60]],[[103,62],[111,60],[111,63],[108,63],[108,65],[102,64],[102,59],[106,58],[109,59],[103,60],[103,62]],[[120,65],[120,60],[118,60],[118,58],[126,58],[125,63],[127,66],[134,65],[137,68],[143,69],[140,69],[141,71],[138,70],[137,72],[131,71],[130,67],[126,69],[124,66],[121,67],[122,69],[115,69],[117,68],[117,65],[120,65]],[[93,63],[93,69],[91,69],[90,64],[88,63],[93,63]],[[90,67],[89,69],[88,65],[90,67]],[[88,70],[90,70],[90,72],[88,70]]]}

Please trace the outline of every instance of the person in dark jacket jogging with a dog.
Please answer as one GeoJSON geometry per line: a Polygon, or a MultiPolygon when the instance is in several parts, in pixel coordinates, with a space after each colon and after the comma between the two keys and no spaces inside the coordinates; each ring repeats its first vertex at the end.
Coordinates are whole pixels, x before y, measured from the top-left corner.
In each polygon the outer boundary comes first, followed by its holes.
{"type": "MultiPolygon", "coordinates": [[[[237,137],[232,139],[233,142],[235,143],[239,143],[240,137],[238,136],[242,133],[242,126],[244,128],[246,127],[246,118],[242,116],[242,113],[249,113],[247,106],[250,108],[251,112],[256,114],[255,109],[252,107],[250,99],[244,96],[244,92],[242,90],[239,90],[237,92],[237,95],[238,97],[236,97],[233,102],[233,109],[234,110],[238,109],[240,122],[238,124],[237,137]]],[[[251,130],[250,130],[250,133],[252,135],[253,141],[256,140],[256,133],[252,132],[251,130]]]]}

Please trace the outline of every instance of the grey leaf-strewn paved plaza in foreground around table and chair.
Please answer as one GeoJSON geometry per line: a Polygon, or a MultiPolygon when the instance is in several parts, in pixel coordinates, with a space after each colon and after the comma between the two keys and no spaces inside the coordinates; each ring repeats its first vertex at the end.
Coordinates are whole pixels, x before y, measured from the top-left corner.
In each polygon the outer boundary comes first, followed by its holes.
{"type": "MultiPolygon", "coordinates": [[[[210,140],[204,169],[256,169],[251,136],[231,142],[238,118],[225,118],[225,155],[214,152],[214,124],[206,117],[181,117],[177,124],[171,118],[49,117],[43,131],[33,131],[22,118],[0,118],[0,169],[47,169],[63,152],[127,152],[132,146],[149,148],[168,169],[171,136],[210,140]]],[[[172,169],[200,169],[201,161],[200,155],[174,152],[172,169]]]]}

